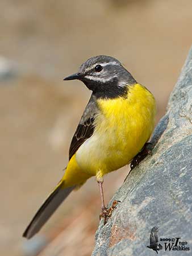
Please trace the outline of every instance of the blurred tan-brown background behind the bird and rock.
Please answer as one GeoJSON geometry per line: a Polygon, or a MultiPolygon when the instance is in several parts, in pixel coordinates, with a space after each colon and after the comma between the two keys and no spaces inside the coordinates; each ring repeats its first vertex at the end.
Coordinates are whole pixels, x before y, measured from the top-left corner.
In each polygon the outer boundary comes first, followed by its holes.
{"type": "MultiPolygon", "coordinates": [[[[191,11],[191,0],[1,0],[1,255],[91,254],[100,213],[94,179],[34,240],[22,238],[62,176],[90,97],[81,82],[62,78],[90,56],[114,56],[155,95],[158,121],[192,43],[191,11]]],[[[128,171],[105,178],[106,202],[128,171]]]]}

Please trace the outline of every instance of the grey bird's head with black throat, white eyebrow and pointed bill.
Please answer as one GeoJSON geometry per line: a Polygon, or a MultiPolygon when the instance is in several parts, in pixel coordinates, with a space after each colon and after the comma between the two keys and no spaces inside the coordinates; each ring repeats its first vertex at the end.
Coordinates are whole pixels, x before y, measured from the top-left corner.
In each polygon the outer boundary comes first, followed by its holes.
{"type": "Polygon", "coordinates": [[[81,80],[98,97],[123,96],[136,83],[130,72],[114,57],[99,55],[83,63],[79,71],[64,80],[81,80]]]}

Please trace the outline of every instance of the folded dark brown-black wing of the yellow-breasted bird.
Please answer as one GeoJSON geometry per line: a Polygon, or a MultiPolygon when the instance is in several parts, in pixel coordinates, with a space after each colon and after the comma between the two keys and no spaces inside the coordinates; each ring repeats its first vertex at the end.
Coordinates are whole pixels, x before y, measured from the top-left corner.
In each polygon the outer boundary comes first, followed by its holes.
{"type": "Polygon", "coordinates": [[[73,135],[72,142],[70,143],[69,160],[77,152],[78,148],[93,134],[95,129],[94,120],[97,113],[97,103],[95,97],[91,95],[80,123],[77,126],[77,130],[73,135]]]}

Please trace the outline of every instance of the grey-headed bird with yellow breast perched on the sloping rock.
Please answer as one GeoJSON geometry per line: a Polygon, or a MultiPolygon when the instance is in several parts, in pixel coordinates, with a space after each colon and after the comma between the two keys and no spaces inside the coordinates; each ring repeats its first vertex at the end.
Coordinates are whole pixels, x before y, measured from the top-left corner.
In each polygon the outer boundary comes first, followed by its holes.
{"type": "Polygon", "coordinates": [[[107,209],[103,176],[131,163],[145,148],[155,126],[153,94],[114,57],[91,57],[64,80],[80,80],[92,93],[70,143],[64,175],[24,231],[23,237],[28,239],[39,232],[70,192],[93,176],[101,195],[100,218],[106,223],[119,201],[107,209]]]}

